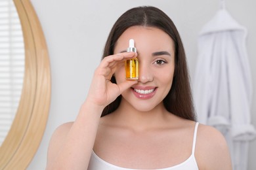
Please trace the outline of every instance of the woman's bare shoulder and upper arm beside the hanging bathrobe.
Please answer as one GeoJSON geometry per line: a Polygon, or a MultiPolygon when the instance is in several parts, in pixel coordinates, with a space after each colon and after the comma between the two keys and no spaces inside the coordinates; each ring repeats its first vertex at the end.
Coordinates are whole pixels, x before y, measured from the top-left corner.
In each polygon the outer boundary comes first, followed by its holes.
{"type": "Polygon", "coordinates": [[[226,140],[215,127],[198,126],[195,155],[200,169],[232,169],[226,140]]]}

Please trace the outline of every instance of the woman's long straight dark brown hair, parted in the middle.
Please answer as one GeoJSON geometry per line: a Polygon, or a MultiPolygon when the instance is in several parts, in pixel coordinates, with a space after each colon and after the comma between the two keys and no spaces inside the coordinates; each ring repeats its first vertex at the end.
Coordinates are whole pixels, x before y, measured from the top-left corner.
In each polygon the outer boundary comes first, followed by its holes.
{"type": "MultiPolygon", "coordinates": [[[[192,102],[192,94],[189,83],[188,67],[181,37],[172,20],[156,7],[136,7],[122,14],[112,27],[102,58],[114,54],[117,39],[129,27],[142,25],[146,27],[157,27],[167,33],[175,43],[175,73],[171,90],[163,99],[165,109],[169,112],[188,120],[196,120],[192,102]]],[[[112,76],[111,81],[116,83],[112,76]]],[[[110,114],[119,107],[121,95],[115,101],[106,106],[102,116],[110,114]]]]}

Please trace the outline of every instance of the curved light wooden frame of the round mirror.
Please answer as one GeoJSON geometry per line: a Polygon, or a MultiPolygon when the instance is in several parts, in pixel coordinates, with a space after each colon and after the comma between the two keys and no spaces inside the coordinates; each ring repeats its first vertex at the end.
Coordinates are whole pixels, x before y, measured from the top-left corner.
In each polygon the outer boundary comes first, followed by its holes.
{"type": "Polygon", "coordinates": [[[26,169],[43,137],[51,101],[51,71],[41,24],[30,0],[14,0],[25,46],[22,95],[0,147],[0,169],[26,169]]]}

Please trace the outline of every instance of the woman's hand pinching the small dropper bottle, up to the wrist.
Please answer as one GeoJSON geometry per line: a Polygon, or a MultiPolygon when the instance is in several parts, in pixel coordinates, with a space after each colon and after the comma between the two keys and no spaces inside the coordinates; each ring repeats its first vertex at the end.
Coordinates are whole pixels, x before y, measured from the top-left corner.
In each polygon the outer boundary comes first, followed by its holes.
{"type": "Polygon", "coordinates": [[[133,84],[136,84],[137,80],[126,80],[120,84],[110,82],[119,63],[135,57],[137,57],[137,53],[123,52],[102,59],[100,65],[95,70],[91,87],[87,95],[87,101],[100,107],[106,107],[124,90],[127,90],[127,88],[133,86],[133,84]]]}

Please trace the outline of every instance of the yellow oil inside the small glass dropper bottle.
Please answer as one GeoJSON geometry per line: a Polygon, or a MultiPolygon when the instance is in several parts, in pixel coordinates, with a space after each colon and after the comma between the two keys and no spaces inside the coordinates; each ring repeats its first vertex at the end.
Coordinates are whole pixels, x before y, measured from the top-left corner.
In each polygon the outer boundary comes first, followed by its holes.
{"type": "Polygon", "coordinates": [[[125,71],[127,80],[138,80],[139,60],[137,58],[127,59],[125,61],[125,71]]]}

